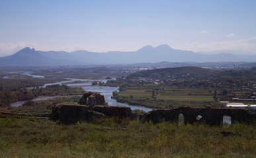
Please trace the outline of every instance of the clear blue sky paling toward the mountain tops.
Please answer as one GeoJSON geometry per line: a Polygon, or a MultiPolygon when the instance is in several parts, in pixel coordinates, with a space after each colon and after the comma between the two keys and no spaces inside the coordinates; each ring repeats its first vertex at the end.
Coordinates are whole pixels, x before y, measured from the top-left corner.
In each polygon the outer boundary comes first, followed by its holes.
{"type": "Polygon", "coordinates": [[[0,57],[24,47],[107,52],[165,43],[256,55],[256,1],[0,0],[0,57]]]}

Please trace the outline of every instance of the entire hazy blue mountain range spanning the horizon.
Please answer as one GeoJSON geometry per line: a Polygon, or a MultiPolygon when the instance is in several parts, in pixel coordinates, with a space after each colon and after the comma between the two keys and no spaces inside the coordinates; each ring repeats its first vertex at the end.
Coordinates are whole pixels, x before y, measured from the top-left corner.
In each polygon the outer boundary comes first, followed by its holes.
{"type": "Polygon", "coordinates": [[[146,45],[138,51],[36,51],[25,47],[13,55],[0,58],[0,66],[58,66],[58,65],[124,65],[135,63],[167,62],[256,62],[256,55],[232,53],[202,54],[173,49],[167,44],[151,47],[146,45]]]}

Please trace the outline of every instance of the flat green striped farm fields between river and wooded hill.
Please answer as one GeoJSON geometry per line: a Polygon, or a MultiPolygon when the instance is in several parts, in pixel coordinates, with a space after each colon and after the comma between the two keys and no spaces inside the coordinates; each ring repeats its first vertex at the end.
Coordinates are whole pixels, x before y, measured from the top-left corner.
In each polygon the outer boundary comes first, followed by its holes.
{"type": "MultiPolygon", "coordinates": [[[[195,90],[189,88],[163,88],[159,87],[127,87],[124,91],[118,92],[118,101],[124,101],[128,103],[134,103],[137,105],[146,105],[153,107],[159,105],[159,101],[198,101],[198,102],[213,102],[213,94],[211,90],[195,90]],[[154,91],[154,92],[153,92],[154,91]],[[154,94],[154,96],[153,96],[154,94]],[[142,103],[141,99],[148,99],[152,103],[142,103]]],[[[169,102],[165,103],[165,106],[169,106],[169,102]]],[[[175,102],[175,104],[177,104],[175,102]]]]}

